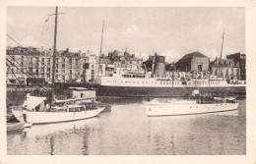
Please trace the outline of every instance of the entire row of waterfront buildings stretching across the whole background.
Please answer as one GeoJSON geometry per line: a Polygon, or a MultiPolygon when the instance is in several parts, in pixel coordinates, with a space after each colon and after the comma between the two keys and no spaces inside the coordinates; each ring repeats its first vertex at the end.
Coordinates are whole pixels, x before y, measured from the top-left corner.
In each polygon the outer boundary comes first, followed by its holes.
{"type": "MultiPolygon", "coordinates": [[[[52,49],[18,46],[8,47],[6,53],[7,84],[51,83],[52,49]]],[[[117,50],[99,58],[90,51],[70,52],[67,48],[56,52],[55,82],[95,82],[96,76],[112,77],[129,72],[150,73],[151,77],[164,78],[173,70],[189,73],[192,78],[206,78],[211,72],[212,76],[226,81],[246,80],[245,54],[235,53],[227,55],[226,59],[210,61],[204,54],[193,52],[175,64],[167,64],[164,59],[164,56],[155,54],[143,62],[134,54],[117,50]]]]}

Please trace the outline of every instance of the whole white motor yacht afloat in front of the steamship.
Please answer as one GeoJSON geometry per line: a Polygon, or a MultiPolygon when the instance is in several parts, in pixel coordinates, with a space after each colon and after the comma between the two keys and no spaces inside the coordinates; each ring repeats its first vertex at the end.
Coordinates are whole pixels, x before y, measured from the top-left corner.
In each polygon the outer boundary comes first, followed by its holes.
{"type": "Polygon", "coordinates": [[[158,99],[143,101],[144,108],[149,117],[198,115],[207,113],[227,112],[237,110],[238,103],[234,97],[219,98],[214,102],[200,102],[199,100],[167,100],[158,99]]]}

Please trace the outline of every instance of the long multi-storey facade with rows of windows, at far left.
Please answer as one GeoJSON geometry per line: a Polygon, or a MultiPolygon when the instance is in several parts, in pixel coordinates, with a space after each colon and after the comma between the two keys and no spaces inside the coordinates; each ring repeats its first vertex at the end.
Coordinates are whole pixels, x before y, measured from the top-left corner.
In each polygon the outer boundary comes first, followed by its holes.
{"type": "MultiPolygon", "coordinates": [[[[10,85],[31,82],[51,83],[53,51],[33,47],[9,47],[6,50],[6,82],[10,85]],[[11,63],[10,63],[11,62],[11,63]]],[[[81,52],[69,49],[57,51],[55,60],[55,82],[70,82],[82,78],[81,52]]],[[[38,84],[38,83],[37,83],[38,84]]]]}

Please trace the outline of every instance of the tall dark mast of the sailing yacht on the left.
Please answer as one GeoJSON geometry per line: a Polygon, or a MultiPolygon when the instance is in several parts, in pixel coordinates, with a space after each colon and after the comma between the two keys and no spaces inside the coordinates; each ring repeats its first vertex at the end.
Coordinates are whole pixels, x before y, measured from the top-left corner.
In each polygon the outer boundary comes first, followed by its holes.
{"type": "Polygon", "coordinates": [[[55,29],[54,29],[54,47],[53,47],[53,61],[52,61],[52,84],[51,84],[51,102],[54,100],[54,79],[55,79],[55,59],[56,59],[56,39],[57,39],[57,23],[58,23],[58,7],[55,12],[55,29]]]}

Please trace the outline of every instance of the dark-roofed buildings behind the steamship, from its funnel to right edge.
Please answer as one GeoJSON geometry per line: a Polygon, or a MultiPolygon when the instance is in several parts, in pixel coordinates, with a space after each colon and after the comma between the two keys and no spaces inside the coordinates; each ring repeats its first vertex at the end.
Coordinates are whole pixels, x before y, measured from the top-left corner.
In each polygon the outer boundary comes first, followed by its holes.
{"type": "Polygon", "coordinates": [[[211,75],[213,78],[222,78],[227,82],[246,80],[245,54],[235,53],[226,55],[226,59],[216,58],[210,61],[206,55],[192,52],[171,64],[165,63],[164,58],[155,54],[144,62],[152,77],[165,78],[166,75],[170,75],[169,72],[174,71],[176,75],[183,75],[178,78],[185,79],[206,79],[211,75]]]}

